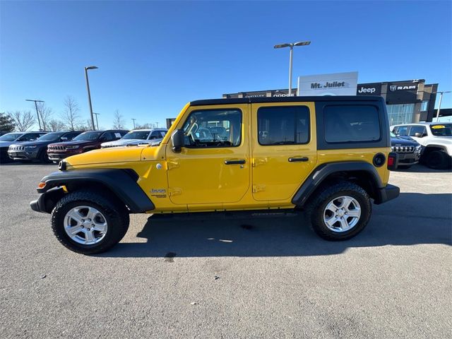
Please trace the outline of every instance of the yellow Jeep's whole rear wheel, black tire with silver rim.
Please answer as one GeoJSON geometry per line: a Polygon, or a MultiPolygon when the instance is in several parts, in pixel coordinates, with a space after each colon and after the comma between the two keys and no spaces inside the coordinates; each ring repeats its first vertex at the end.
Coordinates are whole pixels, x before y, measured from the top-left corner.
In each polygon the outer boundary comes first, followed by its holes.
{"type": "Polygon", "coordinates": [[[327,240],[355,237],[366,227],[370,215],[369,195],[352,182],[338,182],[325,187],[307,207],[312,229],[327,240]]]}

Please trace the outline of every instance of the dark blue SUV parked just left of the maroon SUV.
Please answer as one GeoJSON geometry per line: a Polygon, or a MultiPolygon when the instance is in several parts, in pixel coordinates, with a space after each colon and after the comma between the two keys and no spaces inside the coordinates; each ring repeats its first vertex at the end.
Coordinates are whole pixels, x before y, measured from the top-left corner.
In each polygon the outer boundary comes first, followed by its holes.
{"type": "Polygon", "coordinates": [[[59,141],[69,141],[82,132],[52,132],[41,136],[35,141],[25,143],[13,143],[8,148],[8,156],[12,160],[38,160],[40,162],[49,162],[47,157],[47,145],[59,141]]]}

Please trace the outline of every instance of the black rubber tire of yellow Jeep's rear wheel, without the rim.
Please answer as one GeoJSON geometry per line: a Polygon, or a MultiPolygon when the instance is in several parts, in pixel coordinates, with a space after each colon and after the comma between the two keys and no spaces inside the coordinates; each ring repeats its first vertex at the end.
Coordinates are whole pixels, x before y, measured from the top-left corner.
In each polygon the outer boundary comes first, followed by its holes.
{"type": "Polygon", "coordinates": [[[311,198],[307,205],[306,215],[312,230],[320,237],[331,241],[340,241],[355,237],[364,230],[371,216],[371,201],[369,195],[362,187],[352,182],[336,182],[321,188],[316,195],[311,198]],[[323,221],[323,212],[326,205],[339,196],[351,196],[355,198],[361,208],[361,215],[355,227],[346,232],[334,232],[330,230],[323,221]]]}

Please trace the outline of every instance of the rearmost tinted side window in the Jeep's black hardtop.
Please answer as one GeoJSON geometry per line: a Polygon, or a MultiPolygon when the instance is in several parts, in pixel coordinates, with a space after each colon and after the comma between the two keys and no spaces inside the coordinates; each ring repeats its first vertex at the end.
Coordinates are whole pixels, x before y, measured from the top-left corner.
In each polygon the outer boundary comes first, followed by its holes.
{"type": "Polygon", "coordinates": [[[327,143],[379,141],[381,138],[379,112],[374,106],[326,106],[323,121],[327,143]]]}

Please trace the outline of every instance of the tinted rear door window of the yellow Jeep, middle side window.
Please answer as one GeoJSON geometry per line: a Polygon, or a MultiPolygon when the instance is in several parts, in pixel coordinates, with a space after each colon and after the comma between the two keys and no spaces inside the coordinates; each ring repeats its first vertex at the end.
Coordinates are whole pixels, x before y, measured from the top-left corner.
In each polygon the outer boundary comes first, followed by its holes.
{"type": "Polygon", "coordinates": [[[260,107],[257,111],[260,145],[297,145],[309,142],[309,108],[260,107]]]}

